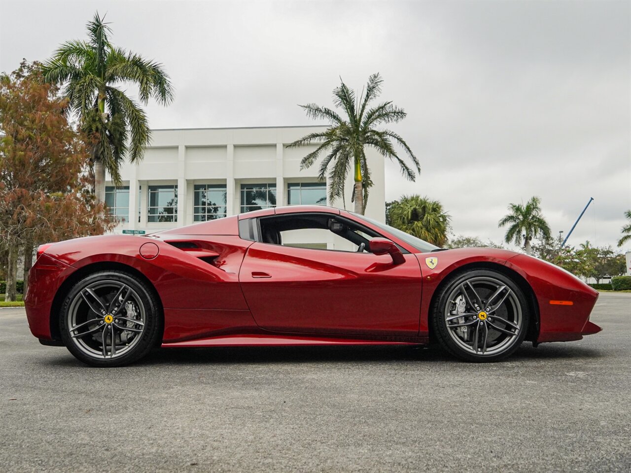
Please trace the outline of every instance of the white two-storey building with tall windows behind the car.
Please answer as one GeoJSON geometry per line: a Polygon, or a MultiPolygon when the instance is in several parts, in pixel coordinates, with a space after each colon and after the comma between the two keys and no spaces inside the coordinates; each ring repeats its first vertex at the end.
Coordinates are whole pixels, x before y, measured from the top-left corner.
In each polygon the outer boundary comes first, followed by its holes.
{"type": "MultiPolygon", "coordinates": [[[[115,232],[151,233],[277,205],[344,208],[341,199],[327,201],[327,184],[317,179],[319,162],[300,170],[300,160],[317,146],[287,147],[305,134],[323,129],[154,130],[144,159],[121,166],[122,185],[114,187],[107,177],[105,200],[121,219],[115,232]]],[[[365,214],[384,221],[384,158],[367,149],[367,159],[374,187],[365,214]]],[[[353,210],[352,170],[346,186],[346,208],[353,210]]]]}

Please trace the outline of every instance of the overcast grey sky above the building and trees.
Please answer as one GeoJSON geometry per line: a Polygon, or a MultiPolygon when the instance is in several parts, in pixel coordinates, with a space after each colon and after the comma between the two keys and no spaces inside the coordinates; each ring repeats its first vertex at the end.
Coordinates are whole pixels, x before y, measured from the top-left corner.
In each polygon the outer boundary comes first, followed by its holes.
{"type": "MultiPolygon", "coordinates": [[[[386,198],[439,199],[456,235],[502,240],[509,202],[540,196],[569,243],[613,245],[631,207],[631,2],[0,2],[0,70],[44,60],[107,13],[116,45],[176,89],[153,128],[315,124],[339,76],[371,73],[420,159],[386,164],[386,198]]],[[[631,250],[631,245],[623,250],[631,250]]]]}

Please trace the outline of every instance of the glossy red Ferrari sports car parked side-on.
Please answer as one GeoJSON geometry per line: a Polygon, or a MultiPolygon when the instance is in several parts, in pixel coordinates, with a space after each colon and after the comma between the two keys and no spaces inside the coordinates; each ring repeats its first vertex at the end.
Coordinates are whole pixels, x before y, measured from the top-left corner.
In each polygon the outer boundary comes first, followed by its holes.
{"type": "Polygon", "coordinates": [[[589,322],[597,297],[527,255],[443,250],[345,210],[292,206],[42,245],[25,305],[42,344],[94,366],[126,365],[156,346],[432,341],[495,361],[524,340],[599,332],[589,322]]]}

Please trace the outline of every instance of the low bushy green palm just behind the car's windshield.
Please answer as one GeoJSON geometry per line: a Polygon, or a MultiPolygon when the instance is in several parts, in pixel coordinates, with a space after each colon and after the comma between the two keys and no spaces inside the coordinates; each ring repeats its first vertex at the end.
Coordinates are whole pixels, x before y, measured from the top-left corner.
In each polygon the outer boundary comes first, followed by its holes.
{"type": "Polygon", "coordinates": [[[442,247],[447,243],[451,217],[439,201],[427,197],[403,196],[391,204],[391,225],[410,235],[442,247]]]}

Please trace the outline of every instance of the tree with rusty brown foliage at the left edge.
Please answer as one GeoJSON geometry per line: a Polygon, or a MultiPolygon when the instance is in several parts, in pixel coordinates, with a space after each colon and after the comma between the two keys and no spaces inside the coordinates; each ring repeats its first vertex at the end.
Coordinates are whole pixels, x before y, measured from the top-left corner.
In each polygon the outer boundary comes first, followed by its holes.
{"type": "Polygon", "coordinates": [[[8,250],[6,300],[15,300],[20,248],[26,274],[35,245],[100,235],[114,225],[100,218],[103,205],[88,189],[89,146],[68,123],[68,102],[57,92],[44,83],[37,63],[22,62],[13,73],[0,75],[0,246],[8,250]]]}

